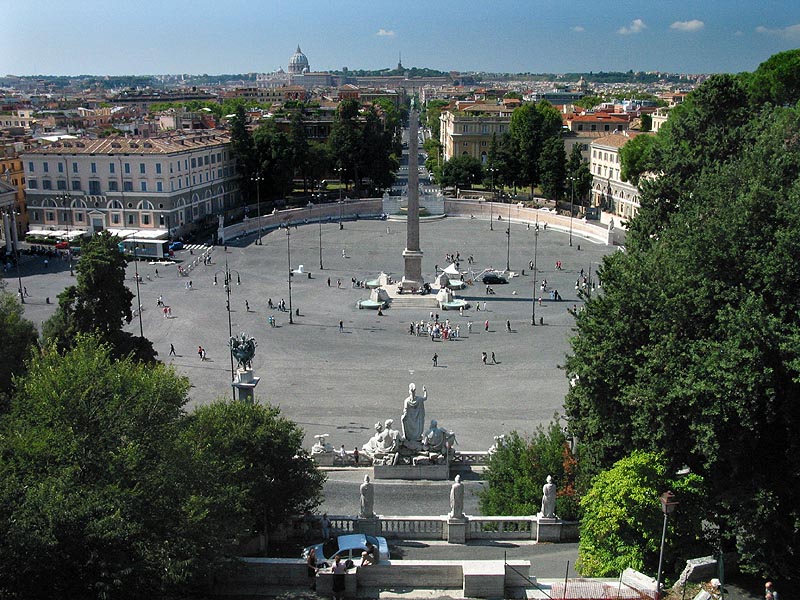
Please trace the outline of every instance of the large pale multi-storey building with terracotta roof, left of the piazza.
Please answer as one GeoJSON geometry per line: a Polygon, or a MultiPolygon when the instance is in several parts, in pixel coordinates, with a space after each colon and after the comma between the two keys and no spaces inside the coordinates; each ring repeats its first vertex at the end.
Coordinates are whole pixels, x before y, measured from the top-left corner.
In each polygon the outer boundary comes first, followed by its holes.
{"type": "Polygon", "coordinates": [[[239,200],[230,137],[62,140],[20,156],[31,229],[180,236],[239,200]]]}

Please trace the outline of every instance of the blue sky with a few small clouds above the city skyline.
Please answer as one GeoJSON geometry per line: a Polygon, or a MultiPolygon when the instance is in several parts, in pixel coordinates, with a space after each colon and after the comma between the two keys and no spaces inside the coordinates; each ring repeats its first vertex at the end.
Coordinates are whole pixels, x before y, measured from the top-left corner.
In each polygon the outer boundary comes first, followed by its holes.
{"type": "Polygon", "coordinates": [[[0,75],[752,71],[798,0],[0,0],[0,75]]]}

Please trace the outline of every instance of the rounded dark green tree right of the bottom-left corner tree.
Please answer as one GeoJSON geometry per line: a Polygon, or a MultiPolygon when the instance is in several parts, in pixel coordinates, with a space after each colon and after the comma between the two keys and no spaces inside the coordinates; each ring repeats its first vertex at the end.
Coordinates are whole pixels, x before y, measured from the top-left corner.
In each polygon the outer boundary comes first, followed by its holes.
{"type": "Polygon", "coordinates": [[[277,408],[223,400],[186,417],[181,443],[202,466],[195,481],[204,496],[246,515],[249,527],[268,537],[288,516],[322,501],[325,476],[303,449],[303,435],[277,408]]]}

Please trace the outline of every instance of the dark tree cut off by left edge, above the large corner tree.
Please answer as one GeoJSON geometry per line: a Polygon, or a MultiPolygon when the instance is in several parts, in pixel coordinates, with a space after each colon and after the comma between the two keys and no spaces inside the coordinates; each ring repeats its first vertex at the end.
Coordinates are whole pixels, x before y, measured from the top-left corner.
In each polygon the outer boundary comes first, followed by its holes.
{"type": "Polygon", "coordinates": [[[39,341],[36,326],[22,316],[23,312],[19,297],[6,292],[5,282],[0,281],[0,340],[4,346],[0,361],[0,414],[8,407],[13,378],[25,373],[25,360],[39,341]]]}

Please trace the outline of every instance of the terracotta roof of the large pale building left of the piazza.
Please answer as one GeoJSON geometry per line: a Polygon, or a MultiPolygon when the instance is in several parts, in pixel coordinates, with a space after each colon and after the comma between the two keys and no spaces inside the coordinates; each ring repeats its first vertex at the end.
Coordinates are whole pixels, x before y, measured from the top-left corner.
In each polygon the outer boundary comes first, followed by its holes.
{"type": "Polygon", "coordinates": [[[230,142],[227,133],[171,135],[155,138],[107,137],[63,140],[30,151],[32,154],[172,154],[221,146],[230,142]]]}

